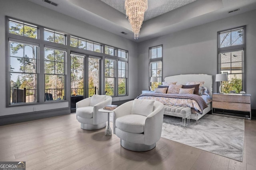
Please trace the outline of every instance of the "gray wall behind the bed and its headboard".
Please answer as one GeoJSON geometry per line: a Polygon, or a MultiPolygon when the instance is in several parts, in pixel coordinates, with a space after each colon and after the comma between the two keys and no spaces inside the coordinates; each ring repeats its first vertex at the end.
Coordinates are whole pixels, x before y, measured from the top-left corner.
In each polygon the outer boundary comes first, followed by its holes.
{"type": "MultiPolygon", "coordinates": [[[[163,45],[163,77],[176,74],[217,74],[217,31],[246,25],[246,93],[256,109],[256,10],[164,35],[138,45],[138,93],[148,88],[149,47],[163,45]]],[[[213,84],[217,92],[217,84],[213,84]]]]}

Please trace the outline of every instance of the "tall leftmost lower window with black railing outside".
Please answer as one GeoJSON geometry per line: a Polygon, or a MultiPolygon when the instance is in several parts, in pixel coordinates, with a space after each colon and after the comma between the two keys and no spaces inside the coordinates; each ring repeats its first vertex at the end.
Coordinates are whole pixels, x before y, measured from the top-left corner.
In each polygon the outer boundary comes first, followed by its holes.
{"type": "Polygon", "coordinates": [[[10,41],[10,104],[37,102],[38,46],[10,41]]]}

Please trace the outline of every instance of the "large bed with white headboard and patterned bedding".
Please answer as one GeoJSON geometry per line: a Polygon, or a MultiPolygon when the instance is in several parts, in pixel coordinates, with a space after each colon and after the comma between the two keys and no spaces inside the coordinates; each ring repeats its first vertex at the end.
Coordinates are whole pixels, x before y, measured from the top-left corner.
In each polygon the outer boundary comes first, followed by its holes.
{"type": "MultiPolygon", "coordinates": [[[[183,95],[183,94],[160,94],[160,93],[148,93],[148,94],[140,94],[137,98],[138,99],[152,99],[162,102],[164,105],[175,105],[175,106],[184,106],[184,107],[190,107],[192,111],[192,115],[190,115],[190,119],[194,119],[197,121],[203,117],[206,113],[208,113],[211,110],[211,97],[212,97],[212,75],[207,74],[180,74],[180,75],[174,75],[174,76],[167,76],[164,78],[164,82],[176,82],[176,84],[183,84],[185,85],[186,82],[195,82],[195,81],[203,81],[204,84],[202,86],[206,87],[208,90],[208,95],[194,95],[195,98],[198,99],[192,99],[193,95],[183,95]],[[169,98],[178,98],[178,99],[171,99],[175,100],[175,102],[169,100],[169,98]],[[180,99],[178,96],[182,96],[180,99]],[[184,97],[186,96],[186,97],[184,97]],[[188,96],[188,97],[187,97],[188,96]],[[191,98],[190,98],[191,97],[191,98]],[[201,107],[202,104],[199,104],[196,100],[201,100],[200,98],[203,98],[205,103],[204,106],[201,107]],[[189,104],[187,102],[184,102],[184,100],[191,100],[189,104]],[[178,101],[178,102],[177,102],[178,101]],[[186,104],[185,104],[186,103],[186,104]]],[[[166,115],[172,115],[168,111],[164,111],[164,114],[166,115]]],[[[177,116],[177,115],[175,115],[177,116]]]]}

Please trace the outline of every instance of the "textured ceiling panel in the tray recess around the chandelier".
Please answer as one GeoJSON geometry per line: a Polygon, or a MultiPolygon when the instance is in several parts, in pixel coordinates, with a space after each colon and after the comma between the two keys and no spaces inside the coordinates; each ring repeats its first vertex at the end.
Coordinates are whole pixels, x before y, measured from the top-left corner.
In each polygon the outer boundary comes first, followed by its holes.
{"type": "MultiPolygon", "coordinates": [[[[116,10],[125,13],[125,0],[101,0],[116,10]]],[[[196,0],[148,0],[148,10],[145,12],[144,21],[160,16],[166,12],[194,2],[196,0]]]]}

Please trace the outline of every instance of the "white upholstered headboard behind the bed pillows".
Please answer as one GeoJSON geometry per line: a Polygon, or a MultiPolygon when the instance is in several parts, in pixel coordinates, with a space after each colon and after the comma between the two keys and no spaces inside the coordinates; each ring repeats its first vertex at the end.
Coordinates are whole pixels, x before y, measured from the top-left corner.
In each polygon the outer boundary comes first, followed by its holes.
{"type": "Polygon", "coordinates": [[[185,85],[186,82],[204,81],[204,85],[208,89],[208,94],[212,97],[212,75],[207,74],[180,74],[174,76],[167,76],[164,78],[165,82],[177,82],[176,84],[185,85]]]}

